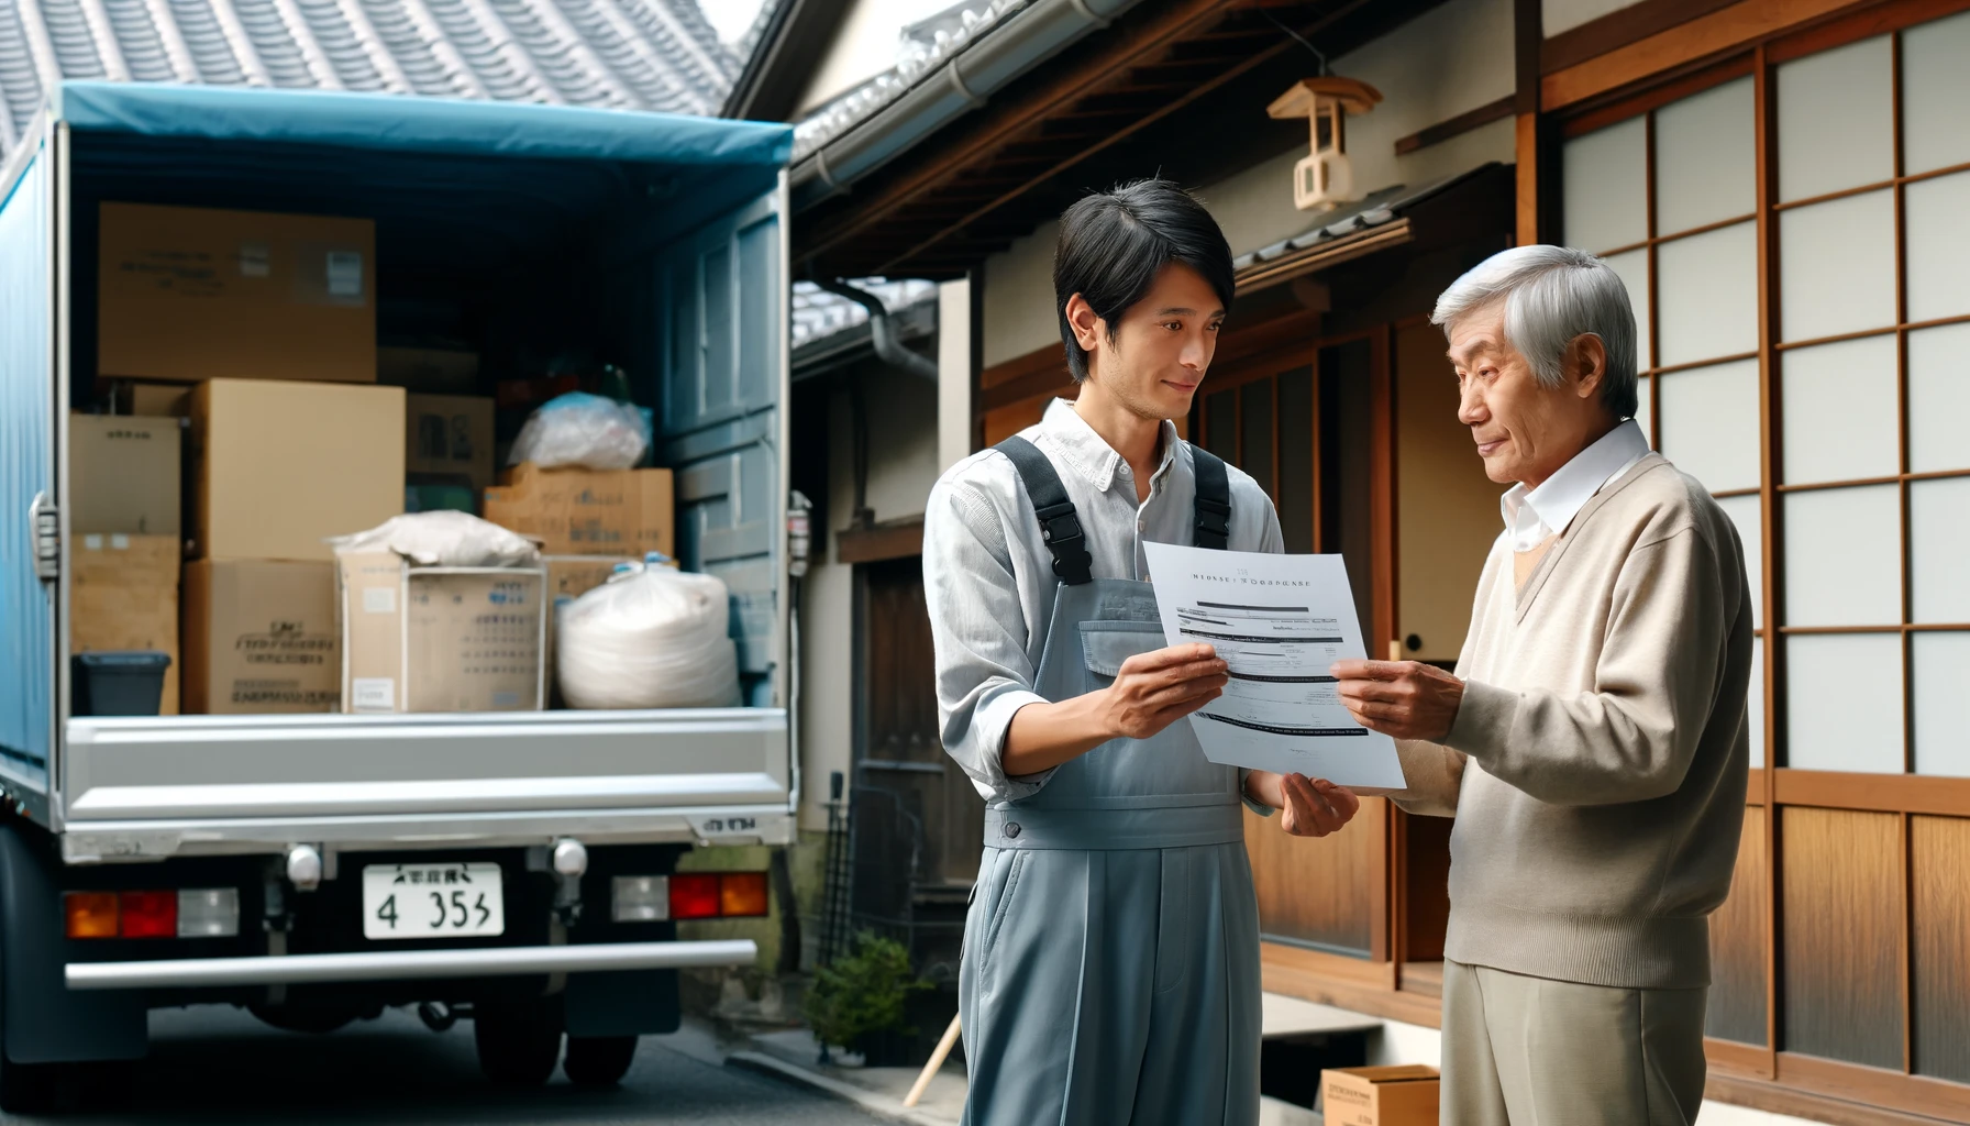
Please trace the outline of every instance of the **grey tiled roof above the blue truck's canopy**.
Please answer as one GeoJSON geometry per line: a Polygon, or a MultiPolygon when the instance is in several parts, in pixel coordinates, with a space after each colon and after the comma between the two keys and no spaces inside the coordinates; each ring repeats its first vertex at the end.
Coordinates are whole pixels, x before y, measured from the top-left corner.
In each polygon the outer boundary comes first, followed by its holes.
{"type": "Polygon", "coordinates": [[[713,114],[737,73],[695,0],[0,0],[0,152],[63,79],[713,114]]]}

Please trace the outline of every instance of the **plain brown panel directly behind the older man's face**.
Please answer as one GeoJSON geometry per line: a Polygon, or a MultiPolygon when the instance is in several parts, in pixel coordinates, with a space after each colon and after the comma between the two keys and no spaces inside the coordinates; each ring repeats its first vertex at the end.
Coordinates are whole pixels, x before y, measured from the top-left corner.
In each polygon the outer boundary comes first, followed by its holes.
{"type": "Polygon", "coordinates": [[[1434,325],[1395,329],[1395,434],[1397,637],[1420,641],[1412,659],[1456,661],[1505,487],[1485,477],[1458,422],[1456,373],[1434,325]]]}

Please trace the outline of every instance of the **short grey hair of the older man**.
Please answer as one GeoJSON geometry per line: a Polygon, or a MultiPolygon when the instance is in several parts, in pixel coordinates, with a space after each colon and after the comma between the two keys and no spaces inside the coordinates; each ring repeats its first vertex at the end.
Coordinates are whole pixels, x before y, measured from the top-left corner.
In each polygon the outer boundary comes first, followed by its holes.
{"type": "Polygon", "coordinates": [[[1566,347],[1592,333],[1608,349],[1602,402],[1615,418],[1635,416],[1635,312],[1608,262],[1572,246],[1501,250],[1436,298],[1430,323],[1448,333],[1452,323],[1501,300],[1505,343],[1525,357],[1543,387],[1562,383],[1566,347]]]}

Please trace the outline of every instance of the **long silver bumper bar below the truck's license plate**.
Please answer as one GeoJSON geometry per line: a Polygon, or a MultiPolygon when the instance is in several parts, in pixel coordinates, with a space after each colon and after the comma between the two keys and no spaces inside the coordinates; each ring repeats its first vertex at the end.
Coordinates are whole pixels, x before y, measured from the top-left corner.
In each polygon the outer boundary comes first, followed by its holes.
{"type": "Polygon", "coordinates": [[[384,982],[404,978],[496,978],[599,970],[680,970],[745,966],[758,958],[751,939],[717,943],[603,943],[591,947],[512,947],[498,950],[374,950],[254,958],[164,958],[154,962],[69,962],[71,990],[280,986],[384,982]]]}

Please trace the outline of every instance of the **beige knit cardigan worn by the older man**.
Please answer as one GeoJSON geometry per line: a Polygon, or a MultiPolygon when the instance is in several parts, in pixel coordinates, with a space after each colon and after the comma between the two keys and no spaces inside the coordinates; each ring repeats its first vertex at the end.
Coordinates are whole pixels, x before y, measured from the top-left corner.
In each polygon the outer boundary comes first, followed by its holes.
{"type": "Polygon", "coordinates": [[[1456,814],[1452,960],[1623,988],[1710,982],[1743,828],[1751,598],[1730,517],[1659,454],[1515,590],[1493,544],[1446,745],[1401,743],[1411,812],[1456,814]]]}

